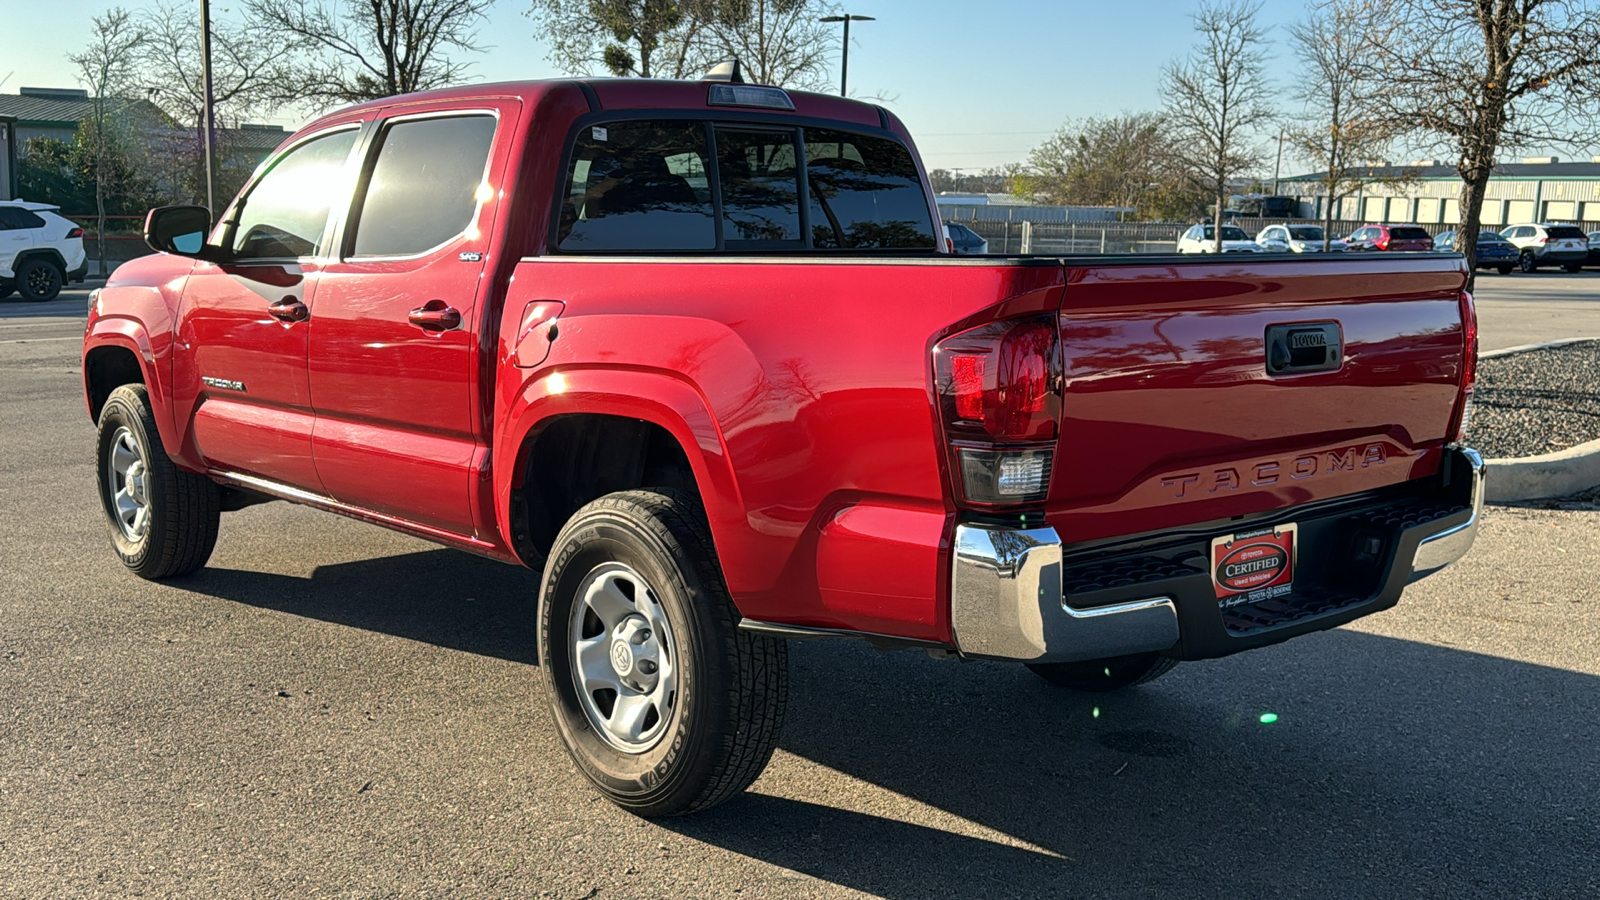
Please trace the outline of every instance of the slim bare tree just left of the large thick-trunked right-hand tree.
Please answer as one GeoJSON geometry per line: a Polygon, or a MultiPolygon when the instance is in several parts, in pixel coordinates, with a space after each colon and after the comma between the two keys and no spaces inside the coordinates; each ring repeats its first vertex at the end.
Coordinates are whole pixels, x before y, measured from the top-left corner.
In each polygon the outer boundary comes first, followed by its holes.
{"type": "Polygon", "coordinates": [[[1395,141],[1392,122],[1373,102],[1374,74],[1366,61],[1374,51],[1378,13],[1370,0],[1325,0],[1293,26],[1290,35],[1299,58],[1294,96],[1306,115],[1288,128],[1290,141],[1322,167],[1322,248],[1333,242],[1333,221],[1344,197],[1368,184],[1402,187],[1413,173],[1382,175],[1386,154],[1395,141]]]}

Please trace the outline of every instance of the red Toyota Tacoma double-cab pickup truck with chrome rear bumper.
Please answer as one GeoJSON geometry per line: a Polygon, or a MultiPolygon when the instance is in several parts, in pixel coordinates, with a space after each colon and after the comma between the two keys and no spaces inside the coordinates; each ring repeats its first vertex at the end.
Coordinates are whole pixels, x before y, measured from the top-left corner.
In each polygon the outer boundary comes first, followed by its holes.
{"type": "Polygon", "coordinates": [[[280,498],[542,572],[578,767],[771,756],[789,639],[1112,690],[1394,605],[1472,543],[1454,255],[954,256],[890,112],[739,82],[400,96],[94,293],[122,562],[280,498]]]}

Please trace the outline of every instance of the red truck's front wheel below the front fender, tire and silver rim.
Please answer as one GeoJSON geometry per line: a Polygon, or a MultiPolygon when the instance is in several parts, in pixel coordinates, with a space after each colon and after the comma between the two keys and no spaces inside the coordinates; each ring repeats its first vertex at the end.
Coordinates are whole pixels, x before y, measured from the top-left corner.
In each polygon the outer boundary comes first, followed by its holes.
{"type": "Polygon", "coordinates": [[[222,490],[166,456],[144,384],[110,392],[94,461],[110,543],[128,570],[158,580],[205,565],[216,548],[222,490]]]}

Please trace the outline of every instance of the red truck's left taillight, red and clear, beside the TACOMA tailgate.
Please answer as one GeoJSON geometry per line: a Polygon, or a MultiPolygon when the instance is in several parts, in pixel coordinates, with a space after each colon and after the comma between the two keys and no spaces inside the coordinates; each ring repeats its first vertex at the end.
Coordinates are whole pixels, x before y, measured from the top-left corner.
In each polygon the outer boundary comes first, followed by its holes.
{"type": "Polygon", "coordinates": [[[962,500],[1045,500],[1061,415],[1056,320],[994,322],[946,338],[934,376],[962,500]]]}

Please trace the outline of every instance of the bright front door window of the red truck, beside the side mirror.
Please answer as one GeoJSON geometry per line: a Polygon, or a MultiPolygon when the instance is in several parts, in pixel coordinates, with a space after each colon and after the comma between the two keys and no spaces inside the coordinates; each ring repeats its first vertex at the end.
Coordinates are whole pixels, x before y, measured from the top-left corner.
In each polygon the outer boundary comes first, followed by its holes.
{"type": "Polygon", "coordinates": [[[312,256],[328,226],[328,208],[344,189],[344,163],[355,130],[298,144],[278,157],[235,213],[229,250],[238,259],[312,256]]]}

